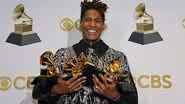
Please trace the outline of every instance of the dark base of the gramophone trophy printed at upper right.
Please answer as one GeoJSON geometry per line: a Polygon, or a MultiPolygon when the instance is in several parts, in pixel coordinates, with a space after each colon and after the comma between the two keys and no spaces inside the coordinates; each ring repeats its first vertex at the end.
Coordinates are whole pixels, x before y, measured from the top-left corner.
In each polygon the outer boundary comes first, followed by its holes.
{"type": "Polygon", "coordinates": [[[133,32],[128,41],[145,45],[145,44],[154,43],[162,40],[163,39],[158,32],[152,32],[152,33],[133,32]]]}

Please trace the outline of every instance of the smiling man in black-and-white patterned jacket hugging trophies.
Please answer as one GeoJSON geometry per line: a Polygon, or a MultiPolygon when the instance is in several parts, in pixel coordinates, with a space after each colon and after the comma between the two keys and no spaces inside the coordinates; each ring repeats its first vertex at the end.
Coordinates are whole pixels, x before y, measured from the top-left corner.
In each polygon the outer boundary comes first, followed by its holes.
{"type": "MultiPolygon", "coordinates": [[[[98,66],[104,74],[76,74],[65,80],[63,73],[57,78],[57,84],[47,89],[48,93],[40,93],[37,97],[41,103],[49,104],[137,104],[137,90],[129,70],[126,56],[106,45],[101,39],[105,29],[105,12],[107,5],[99,0],[81,2],[80,29],[83,39],[68,48],[62,48],[54,56],[56,65],[71,63],[83,54],[90,62],[98,66]],[[110,67],[117,66],[117,71],[110,67]],[[112,66],[111,66],[112,65],[112,66]],[[112,71],[111,71],[112,70],[112,71]],[[119,72],[119,73],[116,73],[119,72]],[[109,76],[107,76],[109,75],[109,76]],[[119,77],[116,77],[119,76],[119,77]],[[84,83],[92,78],[91,86],[84,83]],[[120,80],[115,80],[115,79],[120,80]]],[[[86,69],[90,70],[90,69],[86,69]]],[[[63,69],[61,69],[63,72],[63,69]]],[[[88,83],[91,84],[91,83],[88,83]]],[[[37,85],[35,86],[35,89],[37,85]]],[[[40,92],[43,92],[40,89],[40,92]]],[[[36,93],[33,91],[33,94],[36,93]]]]}

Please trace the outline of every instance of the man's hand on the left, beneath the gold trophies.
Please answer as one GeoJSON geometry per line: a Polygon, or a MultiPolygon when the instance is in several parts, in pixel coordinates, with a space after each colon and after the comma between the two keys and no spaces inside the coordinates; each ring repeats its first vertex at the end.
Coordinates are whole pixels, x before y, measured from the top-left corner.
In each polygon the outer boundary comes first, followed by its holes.
{"type": "Polygon", "coordinates": [[[63,79],[64,77],[65,74],[61,75],[61,77],[57,79],[58,84],[52,88],[51,92],[60,95],[76,92],[82,88],[82,83],[86,81],[86,77],[80,77],[79,74],[67,81],[63,79]]]}

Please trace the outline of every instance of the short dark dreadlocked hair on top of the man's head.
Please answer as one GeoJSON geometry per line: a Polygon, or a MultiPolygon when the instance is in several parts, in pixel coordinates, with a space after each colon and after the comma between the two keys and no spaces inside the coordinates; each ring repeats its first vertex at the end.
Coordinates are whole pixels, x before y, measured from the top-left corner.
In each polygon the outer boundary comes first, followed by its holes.
{"type": "Polygon", "coordinates": [[[105,12],[107,10],[107,4],[101,2],[100,0],[92,0],[92,1],[88,1],[88,0],[84,0],[83,2],[81,2],[81,16],[80,16],[80,21],[83,20],[83,17],[85,15],[85,12],[89,9],[95,9],[97,10],[102,19],[103,22],[105,21],[105,12]]]}

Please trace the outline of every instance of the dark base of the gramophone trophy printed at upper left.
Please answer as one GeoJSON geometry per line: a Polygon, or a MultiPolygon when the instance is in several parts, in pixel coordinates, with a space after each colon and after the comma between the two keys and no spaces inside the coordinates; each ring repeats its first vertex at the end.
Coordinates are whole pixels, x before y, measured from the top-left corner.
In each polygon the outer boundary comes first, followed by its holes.
{"type": "Polygon", "coordinates": [[[8,43],[12,43],[12,44],[19,45],[19,46],[29,45],[29,44],[37,43],[40,41],[41,40],[39,36],[37,35],[37,33],[22,35],[22,34],[18,34],[15,32],[12,32],[6,40],[6,42],[8,43]]]}

